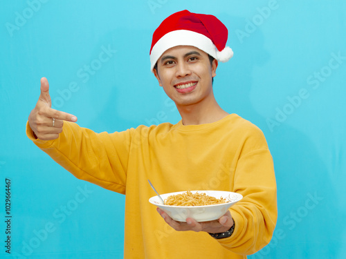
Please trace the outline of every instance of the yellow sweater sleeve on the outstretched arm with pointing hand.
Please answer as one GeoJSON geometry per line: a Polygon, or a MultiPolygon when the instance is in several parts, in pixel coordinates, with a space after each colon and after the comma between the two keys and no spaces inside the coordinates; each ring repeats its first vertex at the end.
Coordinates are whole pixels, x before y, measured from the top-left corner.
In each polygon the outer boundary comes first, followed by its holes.
{"type": "Polygon", "coordinates": [[[26,134],[45,153],[76,178],[105,189],[125,193],[131,132],[95,133],[78,124],[64,122],[56,140],[35,140],[29,124],[26,134]]]}

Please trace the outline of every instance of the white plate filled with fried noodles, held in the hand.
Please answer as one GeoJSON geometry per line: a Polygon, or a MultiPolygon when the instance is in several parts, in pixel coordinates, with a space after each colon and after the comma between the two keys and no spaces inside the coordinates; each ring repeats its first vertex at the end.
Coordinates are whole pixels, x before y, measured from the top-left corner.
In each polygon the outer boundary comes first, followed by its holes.
{"type": "Polygon", "coordinates": [[[149,202],[165,211],[173,220],[186,222],[193,218],[197,222],[217,220],[243,196],[230,191],[179,191],[161,194],[165,201],[162,204],[158,196],[149,202]]]}

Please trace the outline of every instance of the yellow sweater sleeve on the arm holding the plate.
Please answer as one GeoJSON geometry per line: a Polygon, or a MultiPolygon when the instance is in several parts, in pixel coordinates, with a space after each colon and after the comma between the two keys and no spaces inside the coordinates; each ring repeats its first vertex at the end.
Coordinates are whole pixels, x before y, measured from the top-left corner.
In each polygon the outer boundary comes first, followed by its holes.
{"type": "Polygon", "coordinates": [[[235,231],[219,242],[235,253],[249,255],[270,242],[277,220],[273,159],[260,131],[253,133],[242,147],[233,191],[244,196],[230,208],[235,231]]]}

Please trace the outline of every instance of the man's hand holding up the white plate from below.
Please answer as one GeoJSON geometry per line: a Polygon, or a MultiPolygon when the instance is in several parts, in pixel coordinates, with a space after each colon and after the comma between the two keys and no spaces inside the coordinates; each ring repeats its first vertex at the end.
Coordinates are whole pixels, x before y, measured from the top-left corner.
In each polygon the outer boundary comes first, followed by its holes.
{"type": "Polygon", "coordinates": [[[177,222],[172,220],[170,216],[162,209],[157,208],[158,213],[176,231],[206,231],[208,233],[222,233],[228,231],[233,226],[233,218],[230,215],[230,211],[227,211],[225,215],[221,216],[218,220],[212,220],[207,222],[197,222],[193,218],[187,218],[186,222],[177,222]]]}

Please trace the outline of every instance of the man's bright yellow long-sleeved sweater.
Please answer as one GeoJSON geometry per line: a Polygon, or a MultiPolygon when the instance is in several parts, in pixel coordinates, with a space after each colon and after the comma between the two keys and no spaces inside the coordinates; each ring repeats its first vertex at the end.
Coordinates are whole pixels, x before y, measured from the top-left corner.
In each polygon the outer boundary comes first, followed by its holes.
{"type": "Polygon", "coordinates": [[[273,160],[262,131],[231,114],[211,124],[169,123],[94,133],[65,122],[57,140],[35,140],[75,177],[126,194],[125,258],[246,258],[271,240],[277,219],[273,160]],[[161,193],[221,190],[241,193],[230,208],[235,231],[174,231],[148,202],[161,193]]]}

